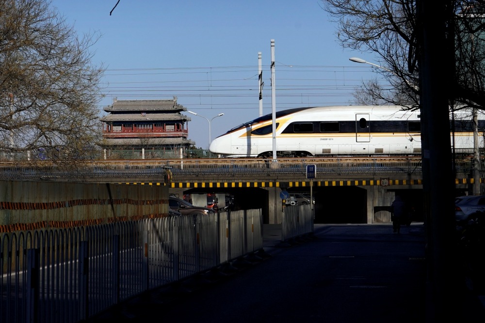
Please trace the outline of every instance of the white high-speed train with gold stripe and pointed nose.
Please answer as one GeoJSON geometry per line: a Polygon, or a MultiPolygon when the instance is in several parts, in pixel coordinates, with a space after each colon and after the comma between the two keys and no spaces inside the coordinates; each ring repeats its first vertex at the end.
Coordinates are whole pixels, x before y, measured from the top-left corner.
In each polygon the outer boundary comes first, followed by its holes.
{"type": "MultiPolygon", "coordinates": [[[[455,148],[473,148],[471,116],[466,110],[454,112],[455,148]]],[[[275,124],[278,157],[421,153],[420,112],[400,106],[291,108],[276,112],[275,124]]],[[[479,120],[478,129],[484,128],[485,120],[479,120]]],[[[483,147],[483,137],[479,137],[483,147]]],[[[226,156],[271,158],[272,114],[227,131],[212,140],[209,150],[226,156]]]]}

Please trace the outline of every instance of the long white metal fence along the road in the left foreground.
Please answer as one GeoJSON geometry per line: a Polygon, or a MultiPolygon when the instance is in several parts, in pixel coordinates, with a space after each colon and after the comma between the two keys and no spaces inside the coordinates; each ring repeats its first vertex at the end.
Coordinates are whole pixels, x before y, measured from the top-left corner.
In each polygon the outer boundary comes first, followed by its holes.
{"type": "Polygon", "coordinates": [[[79,322],[262,249],[261,210],[0,235],[0,322],[79,322]]]}

